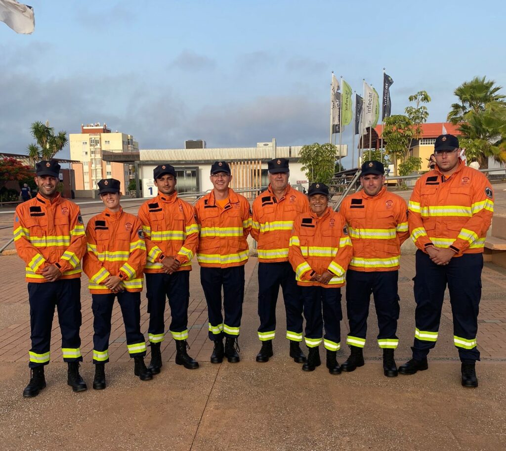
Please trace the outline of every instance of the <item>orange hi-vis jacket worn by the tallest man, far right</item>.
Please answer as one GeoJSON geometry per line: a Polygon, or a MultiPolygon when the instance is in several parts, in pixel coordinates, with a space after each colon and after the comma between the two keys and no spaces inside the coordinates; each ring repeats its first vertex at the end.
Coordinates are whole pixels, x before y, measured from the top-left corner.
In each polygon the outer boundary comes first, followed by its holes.
{"type": "Polygon", "coordinates": [[[409,200],[409,231],[416,247],[451,248],[455,257],[483,252],[494,212],[490,182],[459,162],[446,178],[436,168],[421,176],[409,200]]]}

